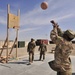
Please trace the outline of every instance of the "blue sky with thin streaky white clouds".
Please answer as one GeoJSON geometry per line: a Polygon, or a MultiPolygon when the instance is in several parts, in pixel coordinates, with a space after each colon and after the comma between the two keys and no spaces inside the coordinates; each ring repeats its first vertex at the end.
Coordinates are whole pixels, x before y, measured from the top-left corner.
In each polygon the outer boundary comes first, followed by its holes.
{"type": "MultiPolygon", "coordinates": [[[[19,41],[31,38],[50,40],[51,20],[57,22],[65,31],[75,31],[75,0],[0,0],[0,40],[7,37],[7,4],[10,13],[17,15],[20,9],[19,41]],[[46,10],[41,9],[42,2],[48,3],[46,10]]],[[[9,29],[9,40],[16,37],[16,29],[9,29]]]]}

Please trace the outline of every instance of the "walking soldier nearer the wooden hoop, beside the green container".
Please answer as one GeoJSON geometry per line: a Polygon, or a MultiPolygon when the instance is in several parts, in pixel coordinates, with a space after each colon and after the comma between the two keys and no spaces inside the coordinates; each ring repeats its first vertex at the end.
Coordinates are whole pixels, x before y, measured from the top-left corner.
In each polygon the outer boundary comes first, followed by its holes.
{"type": "Polygon", "coordinates": [[[36,47],[35,41],[31,38],[31,41],[28,43],[27,52],[29,52],[29,64],[34,60],[34,49],[36,47]]]}

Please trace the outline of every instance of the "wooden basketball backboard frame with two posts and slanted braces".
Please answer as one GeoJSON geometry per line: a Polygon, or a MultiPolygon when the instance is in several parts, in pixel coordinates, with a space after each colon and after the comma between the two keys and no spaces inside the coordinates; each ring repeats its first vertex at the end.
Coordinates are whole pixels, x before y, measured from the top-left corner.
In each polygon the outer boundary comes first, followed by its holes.
{"type": "Polygon", "coordinates": [[[20,19],[20,10],[18,10],[18,14],[16,16],[16,15],[10,13],[10,5],[7,5],[7,37],[6,37],[5,43],[3,45],[3,48],[0,52],[0,62],[2,62],[4,60],[6,63],[8,63],[8,58],[10,58],[10,55],[13,51],[15,43],[16,43],[16,58],[17,58],[19,19],[20,19]],[[15,38],[15,41],[13,43],[13,46],[12,46],[10,52],[8,53],[9,29],[10,28],[16,29],[16,38],[15,38]],[[7,43],[6,57],[2,57],[1,55],[3,53],[3,49],[6,45],[6,43],[7,43]]]}

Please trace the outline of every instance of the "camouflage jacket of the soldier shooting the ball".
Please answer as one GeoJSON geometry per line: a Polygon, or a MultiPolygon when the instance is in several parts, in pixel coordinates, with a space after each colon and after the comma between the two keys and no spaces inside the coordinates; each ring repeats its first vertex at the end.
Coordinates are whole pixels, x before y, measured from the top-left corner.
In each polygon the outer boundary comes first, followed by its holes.
{"type": "MultiPolygon", "coordinates": [[[[61,32],[59,32],[61,33],[61,32]]],[[[56,44],[55,48],[55,63],[62,66],[65,70],[70,68],[69,55],[72,52],[72,42],[65,40],[63,37],[59,36],[58,30],[53,29],[50,33],[52,41],[56,44]]]]}

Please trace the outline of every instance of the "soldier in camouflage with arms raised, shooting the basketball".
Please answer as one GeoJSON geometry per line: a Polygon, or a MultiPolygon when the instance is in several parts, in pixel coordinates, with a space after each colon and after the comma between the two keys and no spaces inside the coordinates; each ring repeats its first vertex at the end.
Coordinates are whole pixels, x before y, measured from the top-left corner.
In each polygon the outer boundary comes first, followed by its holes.
{"type": "Polygon", "coordinates": [[[57,75],[72,75],[70,54],[75,32],[72,30],[61,31],[53,20],[53,30],[50,33],[51,40],[56,44],[54,60],[49,62],[50,67],[57,71],[57,75]]]}

